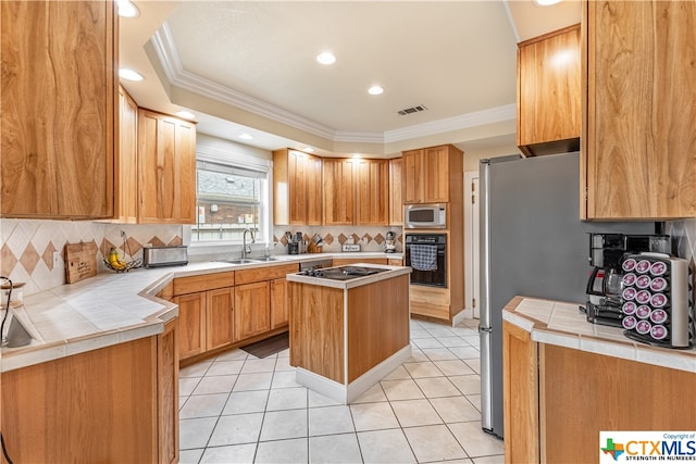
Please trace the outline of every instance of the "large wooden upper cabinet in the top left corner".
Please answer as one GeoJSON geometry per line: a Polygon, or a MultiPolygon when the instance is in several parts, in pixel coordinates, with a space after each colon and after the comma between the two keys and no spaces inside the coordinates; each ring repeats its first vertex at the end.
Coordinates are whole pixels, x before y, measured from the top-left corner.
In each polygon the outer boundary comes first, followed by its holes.
{"type": "Polygon", "coordinates": [[[0,28],[0,213],[112,217],[114,3],[2,1],[0,28]]]}

